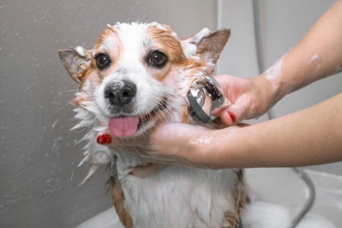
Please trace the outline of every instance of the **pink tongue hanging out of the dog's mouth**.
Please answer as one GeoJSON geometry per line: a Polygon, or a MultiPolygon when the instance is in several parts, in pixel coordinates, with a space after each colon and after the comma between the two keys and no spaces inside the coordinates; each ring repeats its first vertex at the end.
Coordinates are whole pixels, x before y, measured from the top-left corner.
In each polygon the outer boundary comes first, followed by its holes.
{"type": "Polygon", "coordinates": [[[111,117],[108,129],[117,137],[130,136],[137,131],[138,123],[138,117],[111,117]]]}

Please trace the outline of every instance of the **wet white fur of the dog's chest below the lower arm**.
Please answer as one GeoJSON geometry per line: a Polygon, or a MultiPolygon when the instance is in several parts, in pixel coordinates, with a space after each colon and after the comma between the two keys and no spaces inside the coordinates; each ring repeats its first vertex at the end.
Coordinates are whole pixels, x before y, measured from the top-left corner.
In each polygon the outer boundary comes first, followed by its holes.
{"type": "Polygon", "coordinates": [[[169,166],[147,178],[119,174],[119,180],[134,228],[220,227],[224,213],[235,209],[232,170],[169,166]]]}

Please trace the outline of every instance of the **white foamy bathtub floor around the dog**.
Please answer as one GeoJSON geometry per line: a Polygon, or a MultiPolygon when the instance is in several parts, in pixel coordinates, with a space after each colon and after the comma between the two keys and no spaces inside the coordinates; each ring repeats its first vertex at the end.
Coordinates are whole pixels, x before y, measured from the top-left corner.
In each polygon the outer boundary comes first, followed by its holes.
{"type": "MultiPolygon", "coordinates": [[[[297,228],[341,227],[342,176],[308,169],[305,171],[315,184],[316,199],[309,214],[297,228]]],[[[285,228],[285,222],[293,218],[308,196],[307,186],[288,168],[246,169],[246,180],[253,203],[243,212],[243,228],[285,228]],[[258,222],[253,221],[255,217],[258,222]]],[[[77,226],[94,227],[123,228],[114,207],[77,226]]]]}

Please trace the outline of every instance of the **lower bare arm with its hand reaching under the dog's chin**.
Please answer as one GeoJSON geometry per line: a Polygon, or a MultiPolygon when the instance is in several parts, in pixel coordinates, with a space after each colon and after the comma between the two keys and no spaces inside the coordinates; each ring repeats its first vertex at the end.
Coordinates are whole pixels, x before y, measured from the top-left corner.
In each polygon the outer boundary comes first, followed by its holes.
{"type": "MultiPolygon", "coordinates": [[[[246,127],[219,130],[182,123],[157,126],[153,156],[209,169],[300,167],[342,161],[342,93],[310,108],[246,127]]],[[[159,158],[160,159],[160,158],[159,158]]],[[[158,160],[158,159],[157,159],[158,160]]]]}

